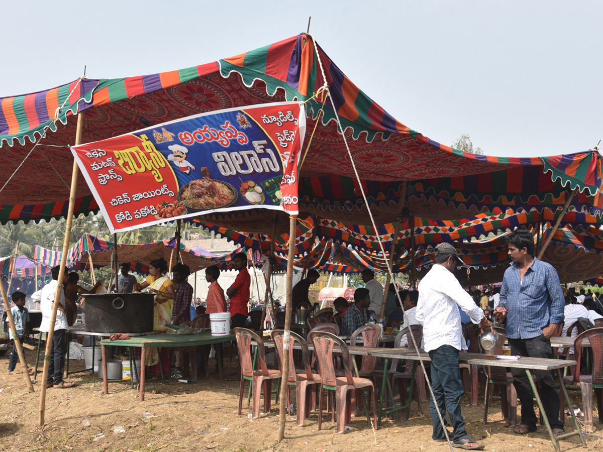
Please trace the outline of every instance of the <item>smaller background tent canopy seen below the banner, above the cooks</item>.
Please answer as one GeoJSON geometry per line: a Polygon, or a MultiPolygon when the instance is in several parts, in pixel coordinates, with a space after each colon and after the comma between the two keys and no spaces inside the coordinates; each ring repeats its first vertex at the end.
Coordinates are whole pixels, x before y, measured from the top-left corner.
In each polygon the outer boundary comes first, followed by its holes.
{"type": "MultiPolygon", "coordinates": [[[[130,262],[130,270],[140,273],[148,273],[148,265],[155,259],[163,258],[167,262],[175,256],[173,251],[176,247],[174,237],[160,242],[145,243],[144,245],[124,245],[118,243],[119,262],[130,262]]],[[[90,268],[90,261],[95,268],[111,265],[111,256],[115,244],[107,240],[99,239],[90,234],[84,234],[75,245],[71,246],[67,255],[68,268],[83,270],[90,268]]],[[[62,251],[51,251],[37,245],[34,249],[34,259],[41,265],[53,267],[61,262],[62,251]]],[[[215,256],[215,255],[213,255],[215,256]]],[[[200,269],[212,265],[212,262],[204,259],[203,254],[192,251],[180,243],[180,262],[185,263],[196,272],[200,269]]],[[[222,257],[218,255],[218,259],[222,257]]]]}

